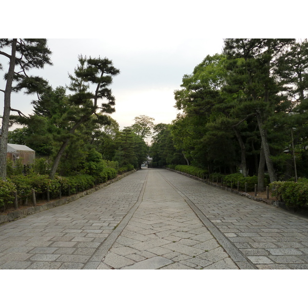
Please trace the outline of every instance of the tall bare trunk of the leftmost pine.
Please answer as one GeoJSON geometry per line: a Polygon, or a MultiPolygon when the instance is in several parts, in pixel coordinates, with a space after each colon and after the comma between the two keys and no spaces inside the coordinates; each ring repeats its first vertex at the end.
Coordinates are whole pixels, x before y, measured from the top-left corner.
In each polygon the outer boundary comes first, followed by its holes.
{"type": "Polygon", "coordinates": [[[7,150],[8,150],[8,133],[9,120],[11,111],[11,92],[15,70],[17,38],[12,40],[12,53],[10,56],[10,66],[7,74],[7,82],[4,92],[4,111],[2,119],[2,132],[0,138],[0,179],[6,180],[7,173],[7,150]]]}

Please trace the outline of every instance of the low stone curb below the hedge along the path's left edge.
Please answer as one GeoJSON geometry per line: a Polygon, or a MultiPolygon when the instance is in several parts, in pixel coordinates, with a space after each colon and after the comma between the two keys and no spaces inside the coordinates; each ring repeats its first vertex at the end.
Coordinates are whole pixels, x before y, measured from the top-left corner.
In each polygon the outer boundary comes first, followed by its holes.
{"type": "Polygon", "coordinates": [[[118,176],[117,178],[114,178],[114,179],[111,179],[111,180],[109,180],[105,183],[102,183],[101,185],[98,185],[94,188],[85,190],[83,192],[79,192],[79,194],[75,194],[75,195],[72,195],[72,196],[69,196],[69,197],[64,197],[64,198],[59,199],[59,200],[53,200],[53,201],[50,201],[50,202],[42,204],[42,205],[32,206],[32,207],[28,207],[28,208],[24,208],[24,209],[17,209],[17,210],[14,210],[12,213],[9,213],[7,215],[0,215],[0,224],[10,222],[10,221],[13,221],[13,220],[16,220],[16,219],[20,219],[20,218],[23,218],[23,217],[26,217],[28,215],[32,215],[32,214],[35,214],[35,213],[40,213],[41,211],[51,209],[53,207],[64,205],[64,204],[70,203],[72,201],[78,200],[79,198],[90,195],[90,194],[92,194],[92,192],[100,190],[100,189],[102,189],[102,188],[104,188],[104,187],[106,187],[106,186],[108,186],[108,185],[110,185],[114,182],[117,182],[117,181],[129,176],[130,174],[132,174],[133,172],[136,172],[136,171],[137,171],[136,169],[128,171],[125,174],[118,176]]]}

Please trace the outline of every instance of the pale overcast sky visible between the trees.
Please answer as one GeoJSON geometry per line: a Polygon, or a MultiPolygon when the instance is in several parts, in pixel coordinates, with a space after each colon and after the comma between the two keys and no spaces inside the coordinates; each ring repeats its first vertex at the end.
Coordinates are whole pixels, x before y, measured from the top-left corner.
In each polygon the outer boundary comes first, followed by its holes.
{"type": "MultiPolygon", "coordinates": [[[[223,39],[175,40],[170,34],[161,37],[140,35],[125,38],[48,38],[52,66],[35,73],[56,88],[69,84],[68,73],[78,65],[78,55],[108,57],[120,74],[113,78],[115,112],[111,117],[120,127],[133,124],[134,117],[145,114],[155,123],[171,123],[179,112],[174,108],[174,90],[179,89],[184,74],[192,72],[207,54],[221,52],[223,39]]],[[[12,95],[12,108],[31,113],[33,98],[12,95]]],[[[3,100],[1,101],[3,106],[3,100]]],[[[3,109],[3,107],[1,108],[3,109]]]]}

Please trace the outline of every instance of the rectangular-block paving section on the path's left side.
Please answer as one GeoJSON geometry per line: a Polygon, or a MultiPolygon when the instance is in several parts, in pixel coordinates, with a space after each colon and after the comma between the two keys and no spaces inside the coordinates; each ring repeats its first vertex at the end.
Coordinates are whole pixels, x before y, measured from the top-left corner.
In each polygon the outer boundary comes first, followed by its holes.
{"type": "Polygon", "coordinates": [[[137,202],[146,172],[93,194],[0,225],[1,269],[80,269],[137,202]]]}

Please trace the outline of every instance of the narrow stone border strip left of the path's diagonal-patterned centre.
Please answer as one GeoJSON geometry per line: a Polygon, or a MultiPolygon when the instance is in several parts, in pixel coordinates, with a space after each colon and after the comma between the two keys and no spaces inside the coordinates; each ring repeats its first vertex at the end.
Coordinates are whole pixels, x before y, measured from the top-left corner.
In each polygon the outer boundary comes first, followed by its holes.
{"type": "Polygon", "coordinates": [[[121,222],[118,224],[118,226],[108,235],[108,237],[101,243],[101,245],[97,248],[95,253],[92,255],[92,257],[88,260],[88,262],[85,264],[85,266],[82,269],[97,269],[102,260],[105,258],[106,254],[108,253],[109,249],[117,240],[119,235],[122,233],[123,229],[133,216],[134,212],[137,210],[139,205],[142,202],[145,187],[147,184],[148,174],[145,177],[144,183],[142,185],[140,194],[138,196],[137,202],[130,208],[128,213],[124,216],[124,218],[121,220],[121,222]]]}

